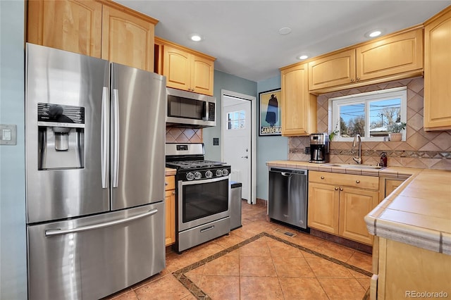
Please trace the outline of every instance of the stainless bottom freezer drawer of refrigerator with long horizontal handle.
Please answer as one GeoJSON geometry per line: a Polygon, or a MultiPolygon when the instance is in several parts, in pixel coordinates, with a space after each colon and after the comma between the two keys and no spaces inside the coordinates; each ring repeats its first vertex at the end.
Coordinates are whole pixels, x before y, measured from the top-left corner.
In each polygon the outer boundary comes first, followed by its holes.
{"type": "Polygon", "coordinates": [[[159,273],[163,210],[160,202],[28,226],[28,299],[101,299],[159,273]]]}

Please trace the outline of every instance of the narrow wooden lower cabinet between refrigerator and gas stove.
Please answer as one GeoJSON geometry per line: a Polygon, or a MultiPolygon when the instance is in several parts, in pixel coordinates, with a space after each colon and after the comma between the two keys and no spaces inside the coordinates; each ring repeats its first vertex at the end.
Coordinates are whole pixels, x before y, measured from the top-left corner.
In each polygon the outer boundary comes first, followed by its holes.
{"type": "Polygon", "coordinates": [[[166,221],[165,221],[165,246],[175,243],[175,179],[174,176],[166,176],[165,190],[166,221]]]}

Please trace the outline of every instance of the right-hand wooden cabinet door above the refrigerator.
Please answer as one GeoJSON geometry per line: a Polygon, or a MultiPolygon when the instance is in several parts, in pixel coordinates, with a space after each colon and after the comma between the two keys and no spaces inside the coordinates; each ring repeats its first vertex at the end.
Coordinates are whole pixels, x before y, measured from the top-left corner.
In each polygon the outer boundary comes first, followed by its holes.
{"type": "Polygon", "coordinates": [[[154,24],[104,5],[101,58],[154,71],[154,24]]]}

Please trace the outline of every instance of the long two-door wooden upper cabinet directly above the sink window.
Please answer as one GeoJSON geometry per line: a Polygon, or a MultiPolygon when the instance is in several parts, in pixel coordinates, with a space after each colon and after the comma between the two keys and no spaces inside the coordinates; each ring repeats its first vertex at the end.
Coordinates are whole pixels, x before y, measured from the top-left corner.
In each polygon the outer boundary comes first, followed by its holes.
{"type": "Polygon", "coordinates": [[[339,89],[421,75],[423,29],[398,32],[309,62],[309,90],[339,89]]]}

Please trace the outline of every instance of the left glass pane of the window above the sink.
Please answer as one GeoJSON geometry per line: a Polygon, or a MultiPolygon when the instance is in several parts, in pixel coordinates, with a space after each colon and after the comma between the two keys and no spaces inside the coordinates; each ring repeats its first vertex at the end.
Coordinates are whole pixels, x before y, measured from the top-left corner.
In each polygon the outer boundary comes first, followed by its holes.
{"type": "Polygon", "coordinates": [[[365,104],[345,104],[340,106],[340,135],[342,137],[365,136],[365,104]]]}

